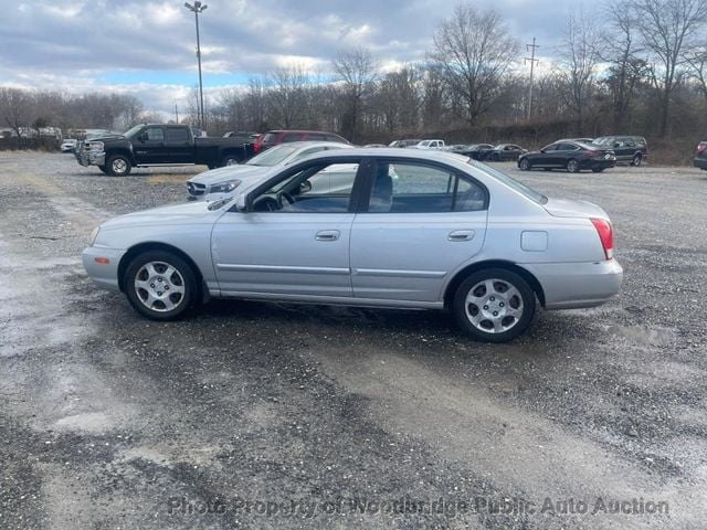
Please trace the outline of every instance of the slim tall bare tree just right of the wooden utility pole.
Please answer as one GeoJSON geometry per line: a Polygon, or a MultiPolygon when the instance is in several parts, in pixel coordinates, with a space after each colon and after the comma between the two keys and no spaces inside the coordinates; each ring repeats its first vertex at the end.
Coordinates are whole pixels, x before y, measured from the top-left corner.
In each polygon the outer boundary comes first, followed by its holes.
{"type": "Polygon", "coordinates": [[[601,34],[594,19],[571,14],[561,42],[558,75],[562,80],[564,103],[574,115],[577,132],[583,135],[584,116],[589,109],[601,61],[601,34]]]}

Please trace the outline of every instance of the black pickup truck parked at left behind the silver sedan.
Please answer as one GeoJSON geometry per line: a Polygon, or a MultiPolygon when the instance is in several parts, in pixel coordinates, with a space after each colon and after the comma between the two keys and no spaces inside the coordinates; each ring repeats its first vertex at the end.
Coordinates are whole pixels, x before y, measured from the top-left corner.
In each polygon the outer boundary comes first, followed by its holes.
{"type": "Polygon", "coordinates": [[[187,125],[144,124],[78,142],[75,155],[82,166],[123,177],[134,167],[240,163],[253,156],[253,144],[247,137],[194,138],[187,125]]]}

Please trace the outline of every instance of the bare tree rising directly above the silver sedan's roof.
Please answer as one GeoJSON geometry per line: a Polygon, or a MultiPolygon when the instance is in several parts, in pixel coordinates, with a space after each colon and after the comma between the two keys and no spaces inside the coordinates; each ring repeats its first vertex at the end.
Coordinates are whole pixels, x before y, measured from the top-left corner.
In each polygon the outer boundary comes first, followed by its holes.
{"type": "Polygon", "coordinates": [[[378,76],[378,65],[371,53],[361,47],[352,52],[339,52],[333,66],[344,84],[346,95],[341,129],[351,141],[357,141],[363,102],[378,76]]]}

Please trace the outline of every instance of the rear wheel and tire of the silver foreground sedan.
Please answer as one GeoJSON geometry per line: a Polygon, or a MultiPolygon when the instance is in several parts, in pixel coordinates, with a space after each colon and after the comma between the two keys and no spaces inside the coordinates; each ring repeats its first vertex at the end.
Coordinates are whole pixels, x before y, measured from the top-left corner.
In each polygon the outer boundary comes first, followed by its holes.
{"type": "Polygon", "coordinates": [[[454,295],[453,310],[461,328],[475,339],[507,342],[532,324],[536,297],[516,273],[488,268],[462,282],[454,295]]]}

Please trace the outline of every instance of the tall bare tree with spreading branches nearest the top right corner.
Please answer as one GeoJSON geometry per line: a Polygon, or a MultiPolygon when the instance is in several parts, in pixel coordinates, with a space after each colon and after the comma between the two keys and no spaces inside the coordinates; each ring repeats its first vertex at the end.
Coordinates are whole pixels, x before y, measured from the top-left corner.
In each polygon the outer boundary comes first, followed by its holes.
{"type": "Polygon", "coordinates": [[[661,104],[659,134],[668,131],[671,97],[685,53],[707,23],[707,0],[633,0],[645,46],[654,55],[653,82],[661,104]]]}

